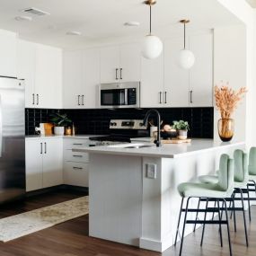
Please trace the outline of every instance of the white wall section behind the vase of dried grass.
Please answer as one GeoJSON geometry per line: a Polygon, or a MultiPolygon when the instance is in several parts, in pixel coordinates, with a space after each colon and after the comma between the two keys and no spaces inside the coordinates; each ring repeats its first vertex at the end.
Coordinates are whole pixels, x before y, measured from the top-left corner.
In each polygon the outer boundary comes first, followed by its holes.
{"type": "MultiPolygon", "coordinates": [[[[246,28],[243,25],[214,30],[214,84],[223,80],[234,90],[246,86],[246,28]]],[[[245,140],[246,97],[234,111],[234,140],[245,140]]],[[[214,137],[217,140],[219,110],[215,107],[214,137]]]]}

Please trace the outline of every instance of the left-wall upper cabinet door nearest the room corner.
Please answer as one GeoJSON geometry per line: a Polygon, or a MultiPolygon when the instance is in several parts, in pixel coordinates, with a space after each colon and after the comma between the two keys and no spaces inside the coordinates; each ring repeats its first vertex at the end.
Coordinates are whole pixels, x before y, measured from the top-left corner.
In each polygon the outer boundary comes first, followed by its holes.
{"type": "Polygon", "coordinates": [[[37,45],[36,107],[58,109],[62,102],[62,50],[37,45]]]}

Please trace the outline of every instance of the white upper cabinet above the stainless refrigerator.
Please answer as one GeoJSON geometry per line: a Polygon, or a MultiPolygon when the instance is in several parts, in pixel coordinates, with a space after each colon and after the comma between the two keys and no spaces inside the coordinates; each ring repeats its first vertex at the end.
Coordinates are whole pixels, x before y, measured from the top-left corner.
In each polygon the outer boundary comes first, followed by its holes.
{"type": "Polygon", "coordinates": [[[17,37],[0,30],[0,75],[17,76],[17,37]]]}

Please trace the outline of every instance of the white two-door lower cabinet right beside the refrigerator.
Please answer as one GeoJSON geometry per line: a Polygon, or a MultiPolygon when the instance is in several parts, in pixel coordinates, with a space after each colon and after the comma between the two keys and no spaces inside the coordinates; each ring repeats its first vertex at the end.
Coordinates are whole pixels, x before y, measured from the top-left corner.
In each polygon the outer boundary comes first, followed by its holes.
{"type": "Polygon", "coordinates": [[[26,139],[26,190],[63,183],[63,139],[26,139]]]}

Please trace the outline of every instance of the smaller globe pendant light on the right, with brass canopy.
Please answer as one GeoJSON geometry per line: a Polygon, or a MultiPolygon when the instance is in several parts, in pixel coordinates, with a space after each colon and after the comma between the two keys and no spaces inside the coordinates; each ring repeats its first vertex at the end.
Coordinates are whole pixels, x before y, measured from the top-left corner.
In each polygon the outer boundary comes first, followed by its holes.
{"type": "Polygon", "coordinates": [[[181,49],[180,51],[178,63],[181,66],[181,68],[190,69],[190,67],[192,67],[195,63],[194,54],[189,49],[186,49],[186,24],[190,21],[181,20],[180,22],[184,24],[184,49],[181,49]]]}

